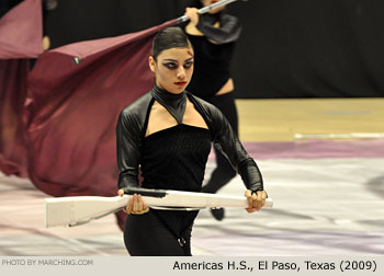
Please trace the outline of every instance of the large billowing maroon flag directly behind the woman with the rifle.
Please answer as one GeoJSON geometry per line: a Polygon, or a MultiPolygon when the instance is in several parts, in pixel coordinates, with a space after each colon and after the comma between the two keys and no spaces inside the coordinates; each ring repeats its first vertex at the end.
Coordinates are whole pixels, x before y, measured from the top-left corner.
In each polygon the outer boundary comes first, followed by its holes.
{"type": "Polygon", "coordinates": [[[153,38],[174,24],[76,43],[39,57],[26,106],[29,174],[37,188],[53,196],[116,195],[118,114],[154,85],[153,38]]]}

